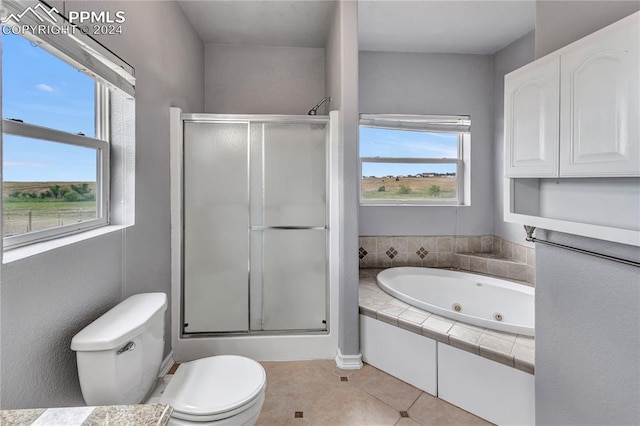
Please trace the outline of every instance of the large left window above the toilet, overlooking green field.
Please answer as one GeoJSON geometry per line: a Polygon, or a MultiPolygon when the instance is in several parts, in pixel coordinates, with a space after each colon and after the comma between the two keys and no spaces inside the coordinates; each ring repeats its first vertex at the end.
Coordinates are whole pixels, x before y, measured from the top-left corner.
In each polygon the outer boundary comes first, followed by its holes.
{"type": "Polygon", "coordinates": [[[106,93],[19,35],[2,45],[5,247],[107,224],[108,126],[96,122],[106,93]]]}

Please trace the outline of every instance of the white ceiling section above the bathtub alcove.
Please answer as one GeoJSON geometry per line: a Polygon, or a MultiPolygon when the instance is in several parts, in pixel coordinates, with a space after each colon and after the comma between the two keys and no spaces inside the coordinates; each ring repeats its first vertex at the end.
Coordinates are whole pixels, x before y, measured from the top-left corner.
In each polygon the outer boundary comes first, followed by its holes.
{"type": "Polygon", "coordinates": [[[360,50],[491,54],[534,29],[535,1],[360,1],[360,50]]]}

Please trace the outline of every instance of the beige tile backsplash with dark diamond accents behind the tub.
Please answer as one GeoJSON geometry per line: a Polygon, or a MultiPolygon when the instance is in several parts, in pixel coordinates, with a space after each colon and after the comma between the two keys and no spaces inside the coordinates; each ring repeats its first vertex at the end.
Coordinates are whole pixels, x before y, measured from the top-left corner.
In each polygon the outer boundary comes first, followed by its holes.
{"type": "Polygon", "coordinates": [[[360,268],[460,268],[535,282],[535,249],[494,235],[360,237],[360,268]]]}

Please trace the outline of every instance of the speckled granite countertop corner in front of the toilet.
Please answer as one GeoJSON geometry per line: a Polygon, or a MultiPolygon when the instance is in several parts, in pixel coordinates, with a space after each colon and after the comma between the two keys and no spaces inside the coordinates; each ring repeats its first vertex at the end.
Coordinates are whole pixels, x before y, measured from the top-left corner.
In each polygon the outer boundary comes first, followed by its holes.
{"type": "Polygon", "coordinates": [[[0,410],[2,426],[165,426],[173,408],[166,404],[0,410]]]}

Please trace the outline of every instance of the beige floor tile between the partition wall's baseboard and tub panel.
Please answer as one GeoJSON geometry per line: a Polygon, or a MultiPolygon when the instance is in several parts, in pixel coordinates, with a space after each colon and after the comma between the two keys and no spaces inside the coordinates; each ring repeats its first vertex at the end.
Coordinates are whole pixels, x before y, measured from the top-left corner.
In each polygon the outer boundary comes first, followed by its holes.
{"type": "Polygon", "coordinates": [[[398,411],[407,411],[422,393],[420,389],[366,364],[349,377],[349,382],[398,411]]]}

